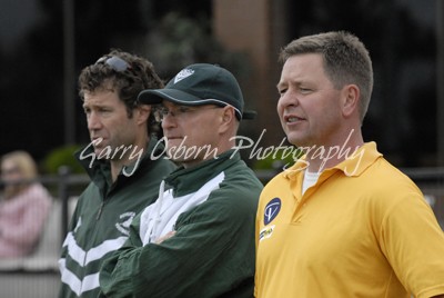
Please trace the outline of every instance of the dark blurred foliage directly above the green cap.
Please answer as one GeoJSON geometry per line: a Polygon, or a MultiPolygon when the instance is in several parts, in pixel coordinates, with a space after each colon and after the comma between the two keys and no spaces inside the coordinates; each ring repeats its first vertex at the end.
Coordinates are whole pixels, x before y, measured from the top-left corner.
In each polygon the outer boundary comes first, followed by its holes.
{"type": "Polygon", "coordinates": [[[148,36],[145,51],[164,78],[196,62],[220,64],[238,79],[249,76],[248,54],[225,49],[213,37],[211,20],[205,17],[192,19],[180,12],[167,13],[148,36]]]}

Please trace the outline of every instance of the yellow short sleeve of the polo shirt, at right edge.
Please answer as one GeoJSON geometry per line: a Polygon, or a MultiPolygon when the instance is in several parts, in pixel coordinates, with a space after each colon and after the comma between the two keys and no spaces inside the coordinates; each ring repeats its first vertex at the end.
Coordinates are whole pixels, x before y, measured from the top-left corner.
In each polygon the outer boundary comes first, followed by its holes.
{"type": "Polygon", "coordinates": [[[444,294],[444,234],[421,193],[407,193],[383,220],[381,246],[415,297],[444,294]]]}

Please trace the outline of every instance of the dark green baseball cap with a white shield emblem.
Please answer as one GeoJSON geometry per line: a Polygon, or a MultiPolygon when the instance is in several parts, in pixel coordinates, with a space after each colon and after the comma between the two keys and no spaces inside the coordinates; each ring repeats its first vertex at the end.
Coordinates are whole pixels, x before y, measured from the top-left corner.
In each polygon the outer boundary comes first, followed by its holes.
{"type": "Polygon", "coordinates": [[[168,100],[183,106],[232,106],[238,120],[253,119],[254,111],[243,110],[243,96],[234,76],[226,69],[208,63],[191,64],[182,69],[163,89],[148,89],[138,100],[147,105],[168,100]]]}

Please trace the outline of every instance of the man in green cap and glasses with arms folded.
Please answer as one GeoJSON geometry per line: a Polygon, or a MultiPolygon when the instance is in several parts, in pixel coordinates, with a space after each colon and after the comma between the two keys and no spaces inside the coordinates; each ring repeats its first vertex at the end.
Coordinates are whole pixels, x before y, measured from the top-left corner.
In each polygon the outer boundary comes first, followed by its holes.
{"type": "Polygon", "coordinates": [[[213,64],[181,70],[139,101],[161,103],[169,158],[181,167],[158,200],[131,225],[107,259],[107,297],[253,297],[254,218],[261,182],[235,147],[243,97],[235,78],[213,64]],[[192,153],[191,153],[192,152],[192,153]]]}

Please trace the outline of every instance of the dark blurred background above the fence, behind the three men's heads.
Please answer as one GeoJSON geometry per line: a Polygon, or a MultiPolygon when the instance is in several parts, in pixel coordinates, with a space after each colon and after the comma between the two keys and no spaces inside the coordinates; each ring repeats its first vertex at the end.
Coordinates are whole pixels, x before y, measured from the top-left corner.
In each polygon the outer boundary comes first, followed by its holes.
{"type": "Polygon", "coordinates": [[[242,135],[258,140],[266,129],[260,145],[278,146],[280,48],[341,29],[374,63],[365,139],[395,166],[443,166],[442,2],[0,0],[0,155],[28,150],[50,172],[54,155],[88,143],[77,77],[111,48],[149,58],[164,80],[193,62],[224,66],[258,111],[242,135]]]}

